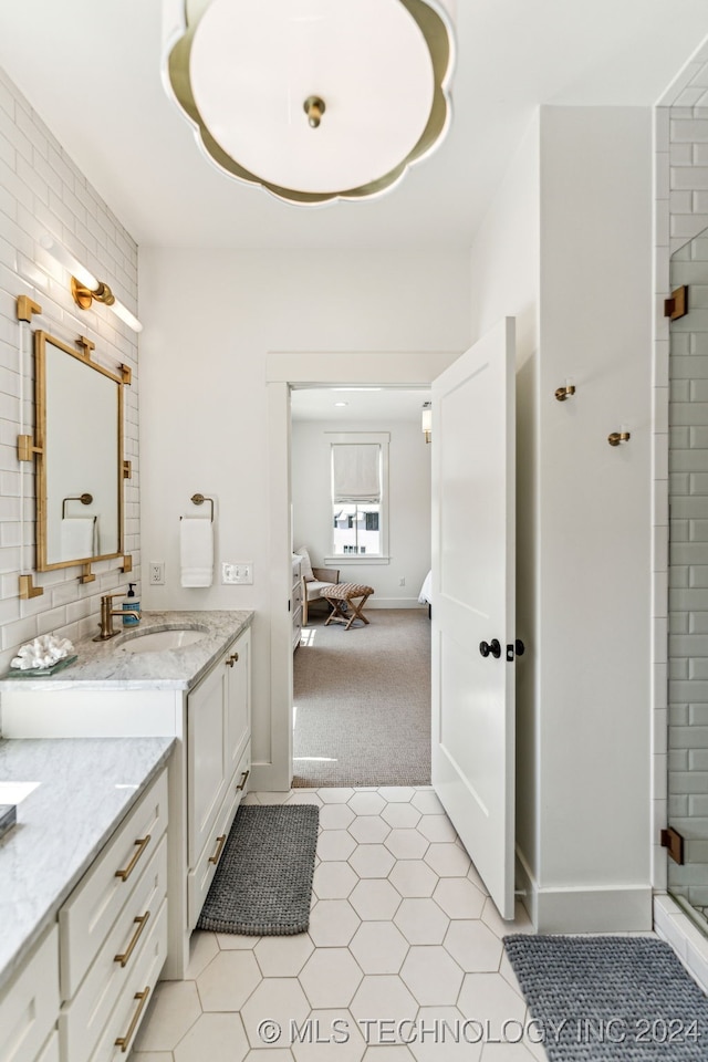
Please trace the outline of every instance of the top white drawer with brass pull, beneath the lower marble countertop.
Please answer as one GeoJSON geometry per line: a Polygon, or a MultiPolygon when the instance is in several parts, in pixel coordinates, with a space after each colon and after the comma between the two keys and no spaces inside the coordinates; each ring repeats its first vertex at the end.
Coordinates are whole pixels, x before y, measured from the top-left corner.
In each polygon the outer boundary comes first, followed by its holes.
{"type": "Polygon", "coordinates": [[[118,826],[59,913],[62,999],[75,996],[166,826],[165,770],[118,826]]]}

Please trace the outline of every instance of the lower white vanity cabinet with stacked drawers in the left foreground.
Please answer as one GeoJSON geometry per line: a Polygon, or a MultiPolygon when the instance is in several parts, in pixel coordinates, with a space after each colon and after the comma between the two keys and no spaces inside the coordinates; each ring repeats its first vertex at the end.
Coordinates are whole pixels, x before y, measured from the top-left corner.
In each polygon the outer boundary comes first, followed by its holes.
{"type": "Polygon", "coordinates": [[[167,958],[163,768],[0,992],[2,1062],[126,1056],[167,958]]]}

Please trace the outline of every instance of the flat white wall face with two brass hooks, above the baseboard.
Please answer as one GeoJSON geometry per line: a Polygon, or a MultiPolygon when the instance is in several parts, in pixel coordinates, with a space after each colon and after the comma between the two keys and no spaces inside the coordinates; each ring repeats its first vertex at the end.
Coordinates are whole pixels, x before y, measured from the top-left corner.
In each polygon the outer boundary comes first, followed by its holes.
{"type": "Polygon", "coordinates": [[[539,888],[560,899],[650,881],[648,108],[542,111],[541,247],[539,888]]]}

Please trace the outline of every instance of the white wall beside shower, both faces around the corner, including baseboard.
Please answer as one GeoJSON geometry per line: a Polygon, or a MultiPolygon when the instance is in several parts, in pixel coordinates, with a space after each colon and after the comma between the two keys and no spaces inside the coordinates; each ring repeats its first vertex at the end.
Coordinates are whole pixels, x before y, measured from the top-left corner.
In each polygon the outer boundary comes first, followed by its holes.
{"type": "Polygon", "coordinates": [[[522,322],[517,843],[540,929],[650,924],[650,149],[648,110],[542,108],[471,259],[475,334],[522,322]]]}

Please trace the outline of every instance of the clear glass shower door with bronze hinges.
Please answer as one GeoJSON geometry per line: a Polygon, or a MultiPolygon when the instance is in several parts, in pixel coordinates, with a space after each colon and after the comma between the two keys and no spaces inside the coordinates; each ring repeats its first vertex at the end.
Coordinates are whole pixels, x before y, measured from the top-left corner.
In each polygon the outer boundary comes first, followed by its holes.
{"type": "Polygon", "coordinates": [[[708,230],[671,257],[688,312],[669,356],[668,887],[708,931],[708,230]]]}

